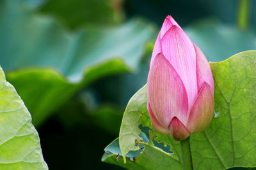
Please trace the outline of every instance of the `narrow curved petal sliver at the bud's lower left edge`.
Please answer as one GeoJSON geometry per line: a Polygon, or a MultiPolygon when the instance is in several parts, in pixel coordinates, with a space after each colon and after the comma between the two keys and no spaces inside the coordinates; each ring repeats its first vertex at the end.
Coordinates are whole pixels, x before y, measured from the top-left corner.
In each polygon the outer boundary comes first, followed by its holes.
{"type": "Polygon", "coordinates": [[[152,127],[155,131],[159,132],[159,134],[170,134],[169,129],[165,129],[156,119],[156,117],[154,116],[154,113],[152,112],[151,108],[150,108],[150,104],[147,104],[147,108],[148,108],[148,114],[152,123],[152,127]]]}

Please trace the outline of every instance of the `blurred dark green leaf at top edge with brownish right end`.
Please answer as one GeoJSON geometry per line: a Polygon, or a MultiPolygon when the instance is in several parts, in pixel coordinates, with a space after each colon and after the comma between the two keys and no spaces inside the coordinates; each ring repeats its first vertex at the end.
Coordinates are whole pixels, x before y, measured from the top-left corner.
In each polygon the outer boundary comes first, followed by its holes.
{"type": "Polygon", "coordinates": [[[49,0],[40,9],[72,29],[82,25],[118,24],[124,18],[122,0],[49,0]]]}

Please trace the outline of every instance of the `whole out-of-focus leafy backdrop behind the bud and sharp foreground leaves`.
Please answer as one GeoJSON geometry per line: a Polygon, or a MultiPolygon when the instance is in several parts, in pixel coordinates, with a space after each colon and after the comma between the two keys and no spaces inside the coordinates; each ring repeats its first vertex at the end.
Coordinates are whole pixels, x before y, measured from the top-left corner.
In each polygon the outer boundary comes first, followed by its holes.
{"type": "Polygon", "coordinates": [[[236,24],[238,3],[1,1],[0,64],[32,115],[48,166],[119,169],[100,162],[102,150],[118,136],[127,102],[147,82],[166,15],[207,59],[220,61],[256,47],[256,2],[243,30],[236,24]]]}

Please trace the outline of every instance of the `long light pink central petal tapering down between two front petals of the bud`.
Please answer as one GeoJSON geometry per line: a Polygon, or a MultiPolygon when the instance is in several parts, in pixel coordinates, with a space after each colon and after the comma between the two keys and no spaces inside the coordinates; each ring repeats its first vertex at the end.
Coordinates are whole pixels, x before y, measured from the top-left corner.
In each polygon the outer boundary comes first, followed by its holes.
{"type": "Polygon", "coordinates": [[[173,25],[161,40],[163,55],[179,74],[188,94],[189,108],[198,94],[196,53],[193,44],[180,27],[173,25]]]}

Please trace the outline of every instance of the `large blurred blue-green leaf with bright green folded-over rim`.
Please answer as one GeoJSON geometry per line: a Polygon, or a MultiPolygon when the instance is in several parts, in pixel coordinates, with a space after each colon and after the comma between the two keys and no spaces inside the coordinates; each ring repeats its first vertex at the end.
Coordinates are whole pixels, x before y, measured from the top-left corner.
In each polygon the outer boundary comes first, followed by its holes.
{"type": "Polygon", "coordinates": [[[16,1],[1,1],[0,11],[0,63],[35,126],[90,82],[134,71],[145,42],[156,36],[154,27],[140,19],[71,34],[16,1]]]}

